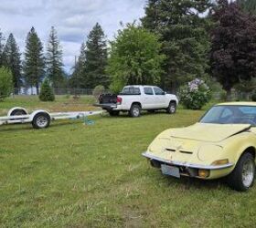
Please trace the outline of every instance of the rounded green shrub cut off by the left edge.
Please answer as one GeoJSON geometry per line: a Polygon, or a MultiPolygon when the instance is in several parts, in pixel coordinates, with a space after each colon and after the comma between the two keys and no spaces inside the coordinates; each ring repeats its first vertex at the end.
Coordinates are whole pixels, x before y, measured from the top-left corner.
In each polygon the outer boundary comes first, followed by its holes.
{"type": "Polygon", "coordinates": [[[13,92],[13,76],[5,67],[0,68],[0,100],[3,100],[13,92]]]}

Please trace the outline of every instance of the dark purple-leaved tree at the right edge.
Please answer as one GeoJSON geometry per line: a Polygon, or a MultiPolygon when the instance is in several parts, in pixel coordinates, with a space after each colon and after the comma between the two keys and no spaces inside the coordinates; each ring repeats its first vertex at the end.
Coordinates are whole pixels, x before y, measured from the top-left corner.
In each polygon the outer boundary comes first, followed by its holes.
{"type": "Polygon", "coordinates": [[[229,99],[231,88],[256,76],[256,21],[228,0],[219,1],[213,18],[210,64],[229,99]]]}

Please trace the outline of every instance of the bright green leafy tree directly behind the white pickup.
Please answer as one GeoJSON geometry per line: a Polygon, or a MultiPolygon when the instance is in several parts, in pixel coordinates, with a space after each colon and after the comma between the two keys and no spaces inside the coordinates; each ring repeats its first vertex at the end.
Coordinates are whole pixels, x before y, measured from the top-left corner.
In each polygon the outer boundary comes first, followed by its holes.
{"type": "Polygon", "coordinates": [[[120,91],[124,85],[158,84],[162,63],[161,43],[148,30],[128,24],[112,42],[108,73],[112,77],[112,90],[120,91]]]}

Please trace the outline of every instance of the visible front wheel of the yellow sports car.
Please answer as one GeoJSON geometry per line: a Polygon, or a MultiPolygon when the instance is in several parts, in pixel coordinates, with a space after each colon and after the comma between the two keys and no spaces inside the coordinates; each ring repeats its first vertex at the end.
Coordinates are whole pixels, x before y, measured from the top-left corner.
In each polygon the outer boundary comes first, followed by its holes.
{"type": "Polygon", "coordinates": [[[235,169],[228,176],[230,188],[245,192],[251,188],[255,176],[255,161],[251,153],[246,152],[237,162],[235,169]]]}

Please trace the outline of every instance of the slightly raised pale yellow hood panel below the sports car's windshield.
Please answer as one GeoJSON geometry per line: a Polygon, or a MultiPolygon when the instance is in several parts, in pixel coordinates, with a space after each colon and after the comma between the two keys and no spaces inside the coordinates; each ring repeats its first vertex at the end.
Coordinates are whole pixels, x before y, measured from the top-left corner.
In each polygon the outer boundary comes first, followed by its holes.
{"type": "Polygon", "coordinates": [[[250,124],[196,123],[187,128],[172,129],[169,137],[187,140],[218,142],[251,128],[250,124]]]}

